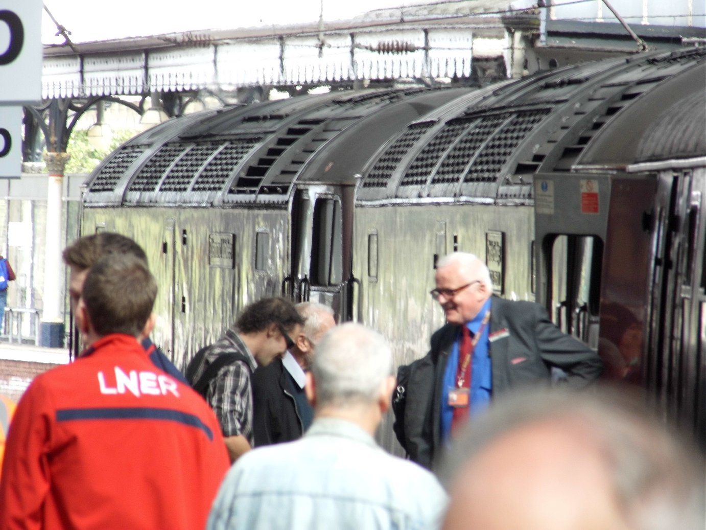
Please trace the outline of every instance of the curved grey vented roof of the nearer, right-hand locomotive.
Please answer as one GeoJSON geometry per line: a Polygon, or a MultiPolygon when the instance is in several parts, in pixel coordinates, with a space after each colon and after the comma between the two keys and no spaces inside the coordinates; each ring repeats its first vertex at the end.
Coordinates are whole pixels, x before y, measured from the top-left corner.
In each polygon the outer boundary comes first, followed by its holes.
{"type": "MultiPolygon", "coordinates": [[[[537,172],[699,155],[690,133],[674,135],[676,122],[670,132],[659,117],[700,98],[705,69],[706,50],[690,49],[596,61],[479,90],[471,105],[447,105],[445,114],[409,124],[390,141],[364,174],[358,200],[522,203],[532,201],[537,172]],[[670,134],[674,145],[667,148],[670,134]]],[[[690,130],[702,132],[706,112],[696,108],[690,130]]]]}

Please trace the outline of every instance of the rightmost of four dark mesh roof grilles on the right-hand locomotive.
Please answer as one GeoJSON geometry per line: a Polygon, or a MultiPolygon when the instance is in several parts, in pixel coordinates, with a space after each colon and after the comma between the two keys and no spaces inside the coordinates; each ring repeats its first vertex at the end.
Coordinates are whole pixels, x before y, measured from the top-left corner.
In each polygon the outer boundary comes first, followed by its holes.
{"type": "Polygon", "coordinates": [[[505,122],[481,148],[463,182],[495,181],[503,165],[513,158],[517,145],[549,112],[549,108],[518,112],[513,119],[505,122]]]}

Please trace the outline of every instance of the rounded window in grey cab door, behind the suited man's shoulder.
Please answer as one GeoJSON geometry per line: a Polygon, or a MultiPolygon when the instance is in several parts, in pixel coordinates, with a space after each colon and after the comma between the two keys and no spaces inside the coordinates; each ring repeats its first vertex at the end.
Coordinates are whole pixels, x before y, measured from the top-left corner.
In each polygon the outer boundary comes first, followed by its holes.
{"type": "Polygon", "coordinates": [[[598,316],[603,242],[599,237],[558,235],[551,247],[551,307],[554,323],[590,342],[598,316]]]}

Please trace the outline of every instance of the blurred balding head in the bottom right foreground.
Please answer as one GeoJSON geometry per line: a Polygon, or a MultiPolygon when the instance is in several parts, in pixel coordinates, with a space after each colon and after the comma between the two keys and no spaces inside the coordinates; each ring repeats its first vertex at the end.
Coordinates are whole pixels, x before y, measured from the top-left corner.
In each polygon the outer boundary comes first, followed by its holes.
{"type": "Polygon", "coordinates": [[[443,528],[703,529],[702,456],[644,396],[596,390],[508,394],[462,429],[441,465],[443,528]]]}

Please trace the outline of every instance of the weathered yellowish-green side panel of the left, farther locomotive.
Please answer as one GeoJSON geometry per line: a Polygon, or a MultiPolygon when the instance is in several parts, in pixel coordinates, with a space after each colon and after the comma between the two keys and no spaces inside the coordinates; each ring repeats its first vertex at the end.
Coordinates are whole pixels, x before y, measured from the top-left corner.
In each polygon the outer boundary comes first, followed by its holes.
{"type": "Polygon", "coordinates": [[[159,287],[152,338],[177,367],[219,338],[242,307],[280,295],[289,269],[289,217],[284,209],[84,208],[83,235],[97,226],[133,237],[145,249],[159,287]],[[169,219],[174,220],[173,247],[165,238],[169,219]],[[269,235],[268,252],[258,260],[262,270],[255,267],[258,230],[269,235]],[[210,236],[216,234],[234,237],[232,267],[210,259],[210,236]]]}

